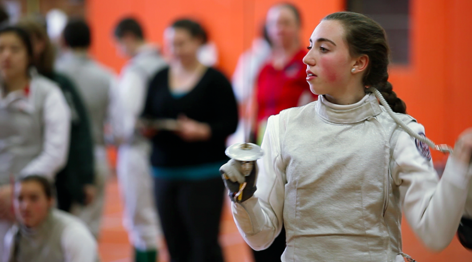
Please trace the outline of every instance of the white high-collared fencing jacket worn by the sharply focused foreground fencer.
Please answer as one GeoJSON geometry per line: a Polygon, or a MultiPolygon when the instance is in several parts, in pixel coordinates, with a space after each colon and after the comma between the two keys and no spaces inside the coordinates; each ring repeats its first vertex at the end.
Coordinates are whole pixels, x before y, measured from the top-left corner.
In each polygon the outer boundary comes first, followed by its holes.
{"type": "MultiPolygon", "coordinates": [[[[398,114],[413,131],[424,128],[398,114]]],[[[232,204],[254,249],[287,231],[283,262],[403,261],[402,210],[434,250],[454,237],[472,168],[449,157],[442,179],[429,148],[401,130],[373,94],[354,105],[318,102],[271,116],[257,191],[232,204]]]]}

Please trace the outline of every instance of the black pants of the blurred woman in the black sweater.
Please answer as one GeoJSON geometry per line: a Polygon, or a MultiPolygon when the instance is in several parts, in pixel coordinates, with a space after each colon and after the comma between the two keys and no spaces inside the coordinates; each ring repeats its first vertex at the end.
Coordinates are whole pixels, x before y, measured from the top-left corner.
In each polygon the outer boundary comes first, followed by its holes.
{"type": "Polygon", "coordinates": [[[218,243],[224,184],[155,178],[155,199],[171,262],[223,262],[218,243]]]}

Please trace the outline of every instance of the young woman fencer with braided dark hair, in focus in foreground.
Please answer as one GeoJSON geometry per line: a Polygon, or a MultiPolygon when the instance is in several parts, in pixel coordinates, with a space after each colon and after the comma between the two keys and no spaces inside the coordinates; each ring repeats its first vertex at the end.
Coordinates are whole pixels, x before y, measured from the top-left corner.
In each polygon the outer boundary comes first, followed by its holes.
{"type": "Polygon", "coordinates": [[[472,129],[459,136],[439,180],[434,143],[388,83],[378,23],[330,14],[308,50],[306,80],[318,101],[269,117],[252,177],[235,160],[221,167],[230,196],[258,175],[240,199],[231,197],[241,235],[265,249],[284,224],[282,261],[414,261],[402,251],[403,211],[428,248],[444,249],[465,211],[472,129]]]}

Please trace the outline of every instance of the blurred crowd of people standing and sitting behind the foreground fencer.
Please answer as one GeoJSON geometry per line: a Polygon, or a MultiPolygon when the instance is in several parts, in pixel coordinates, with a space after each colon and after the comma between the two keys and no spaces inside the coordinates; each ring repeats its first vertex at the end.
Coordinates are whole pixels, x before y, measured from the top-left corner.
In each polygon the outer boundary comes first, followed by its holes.
{"type": "MultiPolygon", "coordinates": [[[[163,32],[166,55],[136,18],[117,21],[116,48],[128,59],[119,75],[89,53],[84,19],[68,19],[53,39],[37,17],[12,24],[0,11],[0,20],[2,261],[99,260],[112,145],[134,260],[155,262],[164,237],[172,262],[222,262],[226,146],[260,144],[270,115],[317,99],[297,8],[268,10],[231,79],[192,19],[163,32]]],[[[280,261],[284,249],[282,233],[255,261],[280,261]]]]}

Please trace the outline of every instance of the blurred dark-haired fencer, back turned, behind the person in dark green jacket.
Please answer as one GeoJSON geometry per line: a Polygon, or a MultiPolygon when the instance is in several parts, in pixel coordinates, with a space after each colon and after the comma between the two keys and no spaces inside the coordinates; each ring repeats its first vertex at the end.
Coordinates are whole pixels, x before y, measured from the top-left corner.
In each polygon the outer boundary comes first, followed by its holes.
{"type": "Polygon", "coordinates": [[[97,237],[105,204],[105,183],[110,175],[104,130],[112,114],[114,75],[89,57],[90,29],[83,20],[69,21],[62,38],[64,54],[57,61],[56,69],[72,79],[88,110],[94,145],[94,184],[97,190],[90,205],[73,205],[71,212],[81,218],[97,237]]]}

